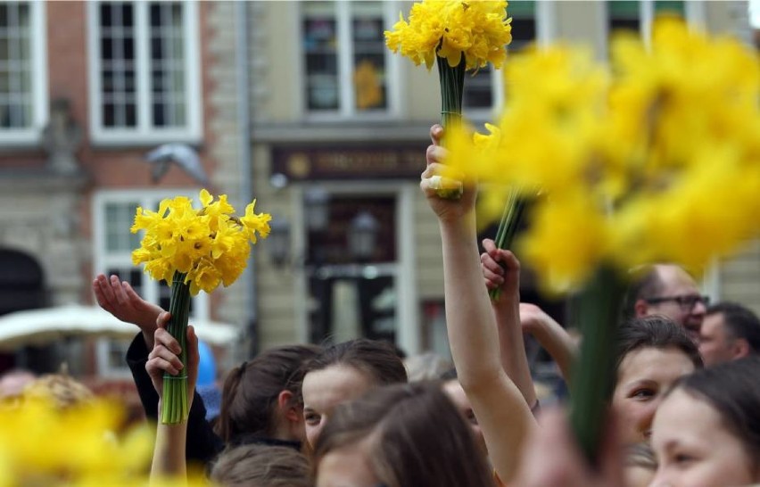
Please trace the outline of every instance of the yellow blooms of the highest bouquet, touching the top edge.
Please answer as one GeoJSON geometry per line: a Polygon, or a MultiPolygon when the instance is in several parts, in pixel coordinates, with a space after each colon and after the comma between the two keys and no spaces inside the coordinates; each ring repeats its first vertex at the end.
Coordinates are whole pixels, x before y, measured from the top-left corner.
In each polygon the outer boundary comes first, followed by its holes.
{"type": "Polygon", "coordinates": [[[491,62],[501,67],[512,41],[507,2],[492,0],[423,0],[412,5],[409,22],[401,14],[393,29],[385,31],[385,43],[394,52],[429,70],[435,56],[457,66],[462,55],[467,70],[491,62]]]}

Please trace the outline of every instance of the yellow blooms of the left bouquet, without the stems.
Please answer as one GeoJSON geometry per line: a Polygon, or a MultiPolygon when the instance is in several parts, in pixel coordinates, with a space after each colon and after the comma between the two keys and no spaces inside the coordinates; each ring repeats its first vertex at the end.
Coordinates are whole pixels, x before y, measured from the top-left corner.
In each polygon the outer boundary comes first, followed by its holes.
{"type": "Polygon", "coordinates": [[[132,262],[145,262],[145,272],[156,280],[171,282],[175,271],[186,274],[193,295],[234,283],[247,265],[250,244],[257,235],[268,235],[271,219],[253,212],[255,201],[240,218],[225,194],[214,199],[203,189],[200,201],[200,210],[185,196],[161,201],[158,211],[137,208],[131,228],[132,233],[145,230],[132,262]]]}

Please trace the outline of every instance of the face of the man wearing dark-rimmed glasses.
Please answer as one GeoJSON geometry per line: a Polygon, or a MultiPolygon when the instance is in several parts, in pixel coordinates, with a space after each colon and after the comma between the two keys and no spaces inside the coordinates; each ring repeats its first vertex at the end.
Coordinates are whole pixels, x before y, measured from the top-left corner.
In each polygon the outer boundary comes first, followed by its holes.
{"type": "MultiPolygon", "coordinates": [[[[701,296],[694,279],[678,266],[663,265],[658,267],[662,291],[650,298],[683,298],[701,296]]],[[[684,305],[676,299],[649,303],[647,315],[663,315],[686,328],[686,332],[698,342],[699,328],[705,318],[706,303],[696,301],[693,306],[684,305]]]]}

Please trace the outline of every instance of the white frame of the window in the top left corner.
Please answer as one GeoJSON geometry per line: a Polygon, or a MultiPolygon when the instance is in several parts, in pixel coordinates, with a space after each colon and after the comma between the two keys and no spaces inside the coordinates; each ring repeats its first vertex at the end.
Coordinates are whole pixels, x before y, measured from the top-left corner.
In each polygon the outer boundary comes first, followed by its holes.
{"type": "Polygon", "coordinates": [[[47,11],[42,0],[29,4],[29,62],[31,64],[32,120],[27,128],[0,128],[0,144],[37,145],[49,120],[47,86],[47,11]]]}

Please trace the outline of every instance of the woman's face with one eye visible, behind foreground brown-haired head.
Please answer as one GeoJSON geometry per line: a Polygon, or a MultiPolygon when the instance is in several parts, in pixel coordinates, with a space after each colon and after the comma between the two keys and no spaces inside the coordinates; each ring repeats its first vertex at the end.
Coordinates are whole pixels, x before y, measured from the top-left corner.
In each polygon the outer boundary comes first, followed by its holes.
{"type": "Polygon", "coordinates": [[[313,448],[335,406],[367,392],[374,382],[357,368],[335,365],[303,377],[303,420],[306,440],[313,448]]]}

